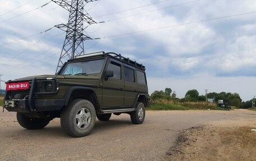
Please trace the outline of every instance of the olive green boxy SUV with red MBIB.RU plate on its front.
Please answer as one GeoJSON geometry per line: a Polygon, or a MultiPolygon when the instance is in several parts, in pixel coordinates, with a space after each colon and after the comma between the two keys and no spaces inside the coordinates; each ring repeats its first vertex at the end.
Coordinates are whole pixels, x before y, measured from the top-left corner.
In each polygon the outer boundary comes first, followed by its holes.
{"type": "Polygon", "coordinates": [[[86,136],[96,117],[130,114],[141,124],[149,95],[145,67],[116,53],[90,53],[68,60],[56,75],[25,77],[6,82],[4,108],[17,112],[17,121],[33,130],[61,118],[70,136],[86,136]]]}

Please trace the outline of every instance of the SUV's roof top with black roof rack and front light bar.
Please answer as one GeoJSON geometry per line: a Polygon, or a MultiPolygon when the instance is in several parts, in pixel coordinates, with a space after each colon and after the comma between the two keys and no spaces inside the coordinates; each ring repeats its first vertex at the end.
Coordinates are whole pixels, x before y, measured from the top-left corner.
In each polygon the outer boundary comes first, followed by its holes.
{"type": "Polygon", "coordinates": [[[68,60],[68,62],[70,61],[74,61],[77,59],[88,59],[88,58],[94,58],[94,57],[111,57],[113,59],[116,59],[117,61],[126,63],[127,65],[133,66],[135,68],[139,68],[140,70],[145,70],[145,66],[143,66],[140,63],[137,63],[136,61],[131,61],[129,58],[125,58],[123,57],[121,54],[116,54],[113,52],[96,52],[96,53],[89,53],[89,54],[84,54],[84,55],[80,55],[80,56],[76,56],[74,59],[70,59],[68,60]]]}

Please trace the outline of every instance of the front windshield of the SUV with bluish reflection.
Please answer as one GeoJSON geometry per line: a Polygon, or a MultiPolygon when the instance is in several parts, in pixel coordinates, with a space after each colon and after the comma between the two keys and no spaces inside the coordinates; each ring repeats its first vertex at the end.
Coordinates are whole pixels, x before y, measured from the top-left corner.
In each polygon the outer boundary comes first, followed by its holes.
{"type": "Polygon", "coordinates": [[[68,63],[61,75],[89,75],[99,73],[102,70],[104,59],[68,63]]]}

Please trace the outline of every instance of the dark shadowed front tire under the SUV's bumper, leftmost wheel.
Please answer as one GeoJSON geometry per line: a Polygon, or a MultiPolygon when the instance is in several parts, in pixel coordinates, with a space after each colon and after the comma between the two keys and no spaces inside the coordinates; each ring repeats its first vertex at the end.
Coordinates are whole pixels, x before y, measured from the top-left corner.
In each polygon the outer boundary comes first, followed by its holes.
{"type": "Polygon", "coordinates": [[[17,121],[19,122],[19,124],[22,127],[27,128],[29,130],[36,130],[36,129],[44,128],[51,121],[51,119],[46,119],[46,118],[28,117],[24,113],[21,113],[21,112],[17,112],[16,117],[17,117],[17,121]]]}

